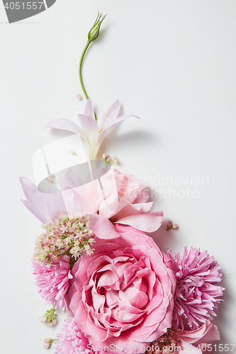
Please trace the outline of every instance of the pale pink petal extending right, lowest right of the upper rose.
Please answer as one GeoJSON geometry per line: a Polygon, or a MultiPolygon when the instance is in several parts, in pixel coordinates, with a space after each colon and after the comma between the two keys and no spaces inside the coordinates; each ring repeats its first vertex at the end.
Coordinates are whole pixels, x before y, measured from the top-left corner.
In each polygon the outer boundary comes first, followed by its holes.
{"type": "Polygon", "coordinates": [[[162,211],[147,214],[130,215],[116,221],[117,224],[126,224],[144,232],[154,232],[162,224],[164,215],[162,211]]]}

